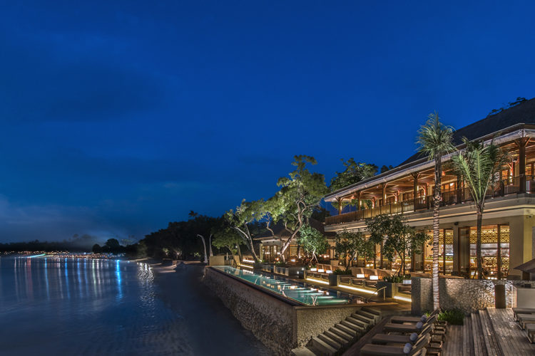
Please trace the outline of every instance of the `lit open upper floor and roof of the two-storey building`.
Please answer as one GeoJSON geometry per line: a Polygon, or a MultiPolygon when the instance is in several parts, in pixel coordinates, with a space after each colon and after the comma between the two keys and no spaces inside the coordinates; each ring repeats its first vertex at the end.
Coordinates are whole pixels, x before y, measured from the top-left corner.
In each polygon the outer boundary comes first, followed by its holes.
{"type": "MultiPolygon", "coordinates": [[[[510,161],[496,174],[486,197],[535,193],[535,99],[457,130],[454,144],[459,150],[464,148],[462,137],[486,143],[494,140],[510,154],[510,161]]],[[[472,199],[467,184],[449,167],[452,155],[443,157],[441,206],[472,199]]],[[[379,214],[427,211],[432,209],[433,192],[434,161],[416,154],[388,172],[327,194],[325,201],[335,202],[339,214],[328,217],[325,224],[344,224],[379,214]],[[345,204],[351,204],[356,211],[342,214],[345,204]]]]}

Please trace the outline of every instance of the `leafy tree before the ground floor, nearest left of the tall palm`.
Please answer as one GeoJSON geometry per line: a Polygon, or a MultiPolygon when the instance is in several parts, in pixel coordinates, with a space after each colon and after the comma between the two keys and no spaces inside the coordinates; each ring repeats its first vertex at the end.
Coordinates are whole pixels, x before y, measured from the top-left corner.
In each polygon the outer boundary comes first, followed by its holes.
{"type": "Polygon", "coordinates": [[[401,215],[377,215],[367,220],[367,230],[372,241],[384,241],[382,253],[389,261],[394,261],[394,255],[401,258],[401,266],[397,271],[399,276],[405,274],[405,260],[407,253],[420,253],[424,242],[429,239],[424,232],[418,232],[404,223],[401,215]]]}

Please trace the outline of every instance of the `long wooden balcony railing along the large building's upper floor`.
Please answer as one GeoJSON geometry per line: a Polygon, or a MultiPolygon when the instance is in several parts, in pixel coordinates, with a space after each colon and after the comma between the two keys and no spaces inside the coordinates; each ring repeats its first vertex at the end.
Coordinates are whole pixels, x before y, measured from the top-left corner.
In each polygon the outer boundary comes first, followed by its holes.
{"type": "MultiPolygon", "coordinates": [[[[509,194],[517,193],[535,193],[535,177],[524,175],[519,177],[510,177],[501,179],[492,183],[486,191],[486,198],[504,197],[509,194]]],[[[450,192],[442,193],[440,206],[449,206],[471,201],[469,189],[456,189],[450,192]]],[[[376,206],[372,209],[363,209],[352,211],[346,214],[328,216],[325,219],[325,225],[344,224],[352,221],[370,219],[382,214],[405,214],[414,211],[425,211],[433,208],[433,197],[422,197],[411,199],[409,201],[398,201],[393,204],[376,206]]]]}

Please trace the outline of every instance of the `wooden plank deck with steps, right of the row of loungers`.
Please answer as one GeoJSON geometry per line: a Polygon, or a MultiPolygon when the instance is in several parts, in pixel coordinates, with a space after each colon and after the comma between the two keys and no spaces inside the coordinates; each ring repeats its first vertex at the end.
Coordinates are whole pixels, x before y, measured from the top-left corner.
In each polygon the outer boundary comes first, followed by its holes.
{"type": "Polygon", "coordinates": [[[535,355],[535,344],[514,321],[511,308],[487,308],[464,318],[464,325],[449,325],[442,355],[535,355]]]}

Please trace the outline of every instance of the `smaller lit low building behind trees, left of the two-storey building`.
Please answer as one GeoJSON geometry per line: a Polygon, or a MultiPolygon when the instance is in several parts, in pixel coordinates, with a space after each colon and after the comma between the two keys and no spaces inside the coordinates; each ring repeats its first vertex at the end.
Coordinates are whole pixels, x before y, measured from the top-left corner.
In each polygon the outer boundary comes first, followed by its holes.
{"type": "MultiPolygon", "coordinates": [[[[328,248],[325,253],[322,253],[320,258],[335,258],[334,246],[336,234],[334,232],[325,232],[323,224],[315,219],[310,219],[309,224],[325,234],[325,236],[327,236],[327,241],[329,241],[330,248],[328,248]]],[[[275,224],[271,229],[273,234],[271,234],[270,231],[266,231],[264,235],[258,236],[255,241],[260,243],[260,258],[265,261],[275,262],[279,261],[282,245],[284,245],[285,241],[290,238],[291,234],[281,223],[275,224]]],[[[297,259],[302,256],[305,256],[305,252],[302,251],[297,244],[297,240],[292,239],[292,241],[290,241],[290,246],[286,248],[285,260],[291,261],[292,259],[297,259]]]]}

